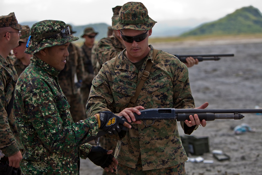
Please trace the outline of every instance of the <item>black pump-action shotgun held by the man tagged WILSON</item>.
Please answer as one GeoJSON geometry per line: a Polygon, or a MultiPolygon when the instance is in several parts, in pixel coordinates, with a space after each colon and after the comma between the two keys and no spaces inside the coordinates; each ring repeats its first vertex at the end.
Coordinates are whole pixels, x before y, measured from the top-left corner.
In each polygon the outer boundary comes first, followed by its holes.
{"type": "MultiPolygon", "coordinates": [[[[176,119],[177,121],[185,121],[189,119],[190,115],[197,114],[200,121],[213,121],[215,119],[234,119],[240,120],[244,116],[240,113],[262,113],[262,109],[175,109],[175,108],[151,108],[151,109],[141,109],[140,115],[134,113],[136,120],[142,120],[144,125],[152,125],[155,120],[168,120],[176,119]]],[[[121,119],[127,119],[123,116],[119,116],[121,119]]],[[[130,124],[130,123],[129,123],[130,124]]],[[[127,131],[128,128],[120,125],[120,128],[124,131],[127,131]]],[[[105,135],[106,132],[100,130],[96,136],[91,136],[87,139],[86,142],[94,140],[100,136],[105,135]]]]}

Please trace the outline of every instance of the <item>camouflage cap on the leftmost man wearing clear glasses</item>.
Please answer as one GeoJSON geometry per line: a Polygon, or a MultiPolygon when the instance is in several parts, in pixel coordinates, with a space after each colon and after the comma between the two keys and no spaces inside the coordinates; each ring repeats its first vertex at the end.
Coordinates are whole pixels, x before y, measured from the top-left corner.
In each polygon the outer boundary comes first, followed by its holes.
{"type": "Polygon", "coordinates": [[[4,27],[12,27],[17,30],[26,29],[21,24],[18,24],[14,12],[9,13],[9,15],[0,16],[0,28],[4,28],[4,27]]]}

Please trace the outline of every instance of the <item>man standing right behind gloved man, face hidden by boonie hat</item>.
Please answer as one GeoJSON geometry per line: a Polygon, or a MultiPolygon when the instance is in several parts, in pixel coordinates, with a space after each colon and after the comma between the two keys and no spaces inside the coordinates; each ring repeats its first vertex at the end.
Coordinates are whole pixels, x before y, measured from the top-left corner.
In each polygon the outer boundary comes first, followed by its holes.
{"type": "MultiPolygon", "coordinates": [[[[71,34],[72,26],[69,26],[71,34]]],[[[74,123],[86,119],[85,105],[82,102],[80,94],[80,86],[83,81],[84,64],[82,54],[79,48],[72,42],[68,46],[69,56],[66,58],[65,67],[58,74],[58,83],[67,98],[70,105],[70,113],[74,123]],[[75,75],[77,75],[78,82],[75,83],[75,75]]]]}

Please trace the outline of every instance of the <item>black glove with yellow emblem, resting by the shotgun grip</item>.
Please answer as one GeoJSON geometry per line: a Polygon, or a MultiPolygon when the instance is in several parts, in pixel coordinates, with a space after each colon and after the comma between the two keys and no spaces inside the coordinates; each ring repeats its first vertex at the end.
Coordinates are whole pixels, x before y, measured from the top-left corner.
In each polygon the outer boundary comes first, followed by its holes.
{"type": "Polygon", "coordinates": [[[117,115],[114,115],[110,111],[100,112],[98,120],[100,120],[99,128],[106,131],[109,135],[117,134],[117,132],[120,132],[121,129],[119,127],[119,124],[123,125],[125,123],[124,120],[120,119],[117,115]]]}

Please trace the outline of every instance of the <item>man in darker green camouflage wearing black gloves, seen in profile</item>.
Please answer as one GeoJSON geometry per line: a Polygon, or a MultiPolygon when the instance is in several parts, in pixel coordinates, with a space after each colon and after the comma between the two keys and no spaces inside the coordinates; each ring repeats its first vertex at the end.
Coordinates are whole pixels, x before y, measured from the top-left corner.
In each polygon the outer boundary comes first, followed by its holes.
{"type": "Polygon", "coordinates": [[[70,105],[58,84],[69,42],[77,39],[62,21],[44,20],[31,28],[25,52],[33,57],[17,81],[14,101],[19,137],[25,148],[20,163],[25,175],[79,174],[79,157],[88,157],[111,172],[116,168],[112,151],[84,144],[85,140],[96,135],[98,128],[116,134],[119,124],[131,126],[117,119],[107,125],[112,113],[73,123],[70,105]]]}

